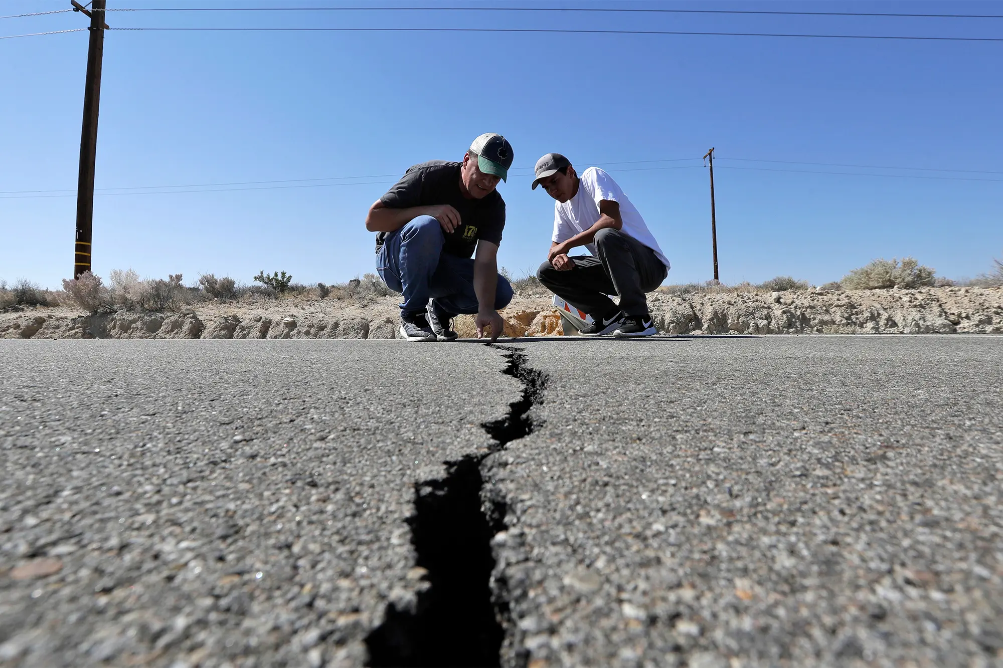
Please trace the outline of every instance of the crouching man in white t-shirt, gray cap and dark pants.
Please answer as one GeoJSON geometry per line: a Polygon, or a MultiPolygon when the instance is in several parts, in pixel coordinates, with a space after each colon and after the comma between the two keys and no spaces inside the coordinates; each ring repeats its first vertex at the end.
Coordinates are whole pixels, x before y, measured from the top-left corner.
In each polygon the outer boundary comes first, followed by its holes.
{"type": "Polygon", "coordinates": [[[585,336],[651,336],[658,332],[645,293],[665,280],[669,261],[641,214],[610,175],[589,168],[581,178],[567,157],[537,161],[533,188],[557,200],[554,236],[537,276],[554,294],[592,316],[585,336]],[[592,255],[570,256],[577,246],[592,255]],[[615,304],[608,295],[619,295],[615,304]]]}

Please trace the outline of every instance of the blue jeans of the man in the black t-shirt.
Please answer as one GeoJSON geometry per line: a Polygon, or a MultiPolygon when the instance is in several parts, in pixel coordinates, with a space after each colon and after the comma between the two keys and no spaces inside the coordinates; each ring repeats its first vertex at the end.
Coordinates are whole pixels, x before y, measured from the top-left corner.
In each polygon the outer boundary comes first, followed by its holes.
{"type": "MultiPolygon", "coordinates": [[[[429,298],[450,315],[476,313],[473,260],[442,252],[445,236],[438,221],[419,216],[387,234],[376,255],[376,271],[386,287],[404,295],[403,313],[424,313],[429,298]]],[[[498,275],[494,309],[512,301],[512,285],[498,275]]]]}

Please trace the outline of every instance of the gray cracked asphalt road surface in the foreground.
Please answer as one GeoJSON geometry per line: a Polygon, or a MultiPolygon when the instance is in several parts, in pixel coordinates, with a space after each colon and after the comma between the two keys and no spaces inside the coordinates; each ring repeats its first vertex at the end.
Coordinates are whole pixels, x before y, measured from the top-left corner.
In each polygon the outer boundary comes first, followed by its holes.
{"type": "Polygon", "coordinates": [[[506,345],[0,342],[0,665],[1003,662],[1003,338],[506,345]]]}

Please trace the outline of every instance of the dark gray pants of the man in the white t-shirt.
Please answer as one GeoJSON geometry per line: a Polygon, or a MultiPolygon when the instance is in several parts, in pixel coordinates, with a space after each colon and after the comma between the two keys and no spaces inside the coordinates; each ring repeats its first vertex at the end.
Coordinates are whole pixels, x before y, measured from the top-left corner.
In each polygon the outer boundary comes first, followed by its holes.
{"type": "Polygon", "coordinates": [[[597,320],[617,310],[631,316],[647,314],[644,295],[661,285],[669,270],[654,251],[620,230],[600,230],[594,243],[598,256],[572,257],[574,269],[562,272],[550,262],[540,265],[540,282],[597,320]],[[607,295],[620,295],[620,306],[607,295]]]}

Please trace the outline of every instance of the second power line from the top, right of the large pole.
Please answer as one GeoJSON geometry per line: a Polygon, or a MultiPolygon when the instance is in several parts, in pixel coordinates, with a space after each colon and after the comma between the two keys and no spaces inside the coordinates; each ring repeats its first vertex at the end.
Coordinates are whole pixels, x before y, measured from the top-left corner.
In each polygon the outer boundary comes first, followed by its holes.
{"type": "MultiPolygon", "coordinates": [[[[891,39],[938,42],[1003,42],[1003,37],[920,37],[916,35],[824,35],[785,32],[703,32],[690,30],[580,30],[561,28],[110,28],[158,32],[514,32],[582,35],[696,35],[713,37],[803,37],[821,39],[891,39]]],[[[69,31],[65,31],[69,32],[69,31]]],[[[22,35],[13,35],[20,37],[22,35]]]]}

